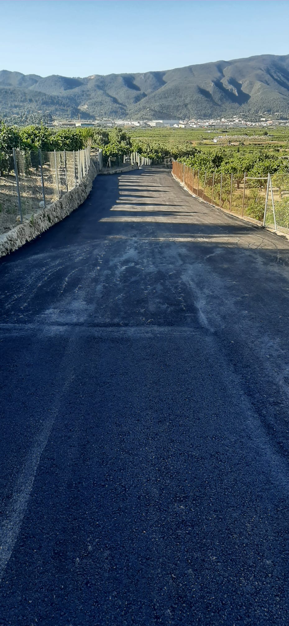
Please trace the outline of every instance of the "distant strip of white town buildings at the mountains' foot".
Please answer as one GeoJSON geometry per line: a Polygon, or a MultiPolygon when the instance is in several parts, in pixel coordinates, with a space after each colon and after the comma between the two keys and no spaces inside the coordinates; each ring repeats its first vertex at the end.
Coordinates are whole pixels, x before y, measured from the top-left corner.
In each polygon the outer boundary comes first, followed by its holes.
{"type": "Polygon", "coordinates": [[[270,117],[261,117],[258,121],[243,120],[238,117],[218,118],[212,120],[54,120],[50,124],[57,128],[69,128],[77,126],[102,126],[113,128],[115,126],[135,126],[142,128],[250,128],[253,126],[289,126],[289,120],[275,120],[270,117]]]}

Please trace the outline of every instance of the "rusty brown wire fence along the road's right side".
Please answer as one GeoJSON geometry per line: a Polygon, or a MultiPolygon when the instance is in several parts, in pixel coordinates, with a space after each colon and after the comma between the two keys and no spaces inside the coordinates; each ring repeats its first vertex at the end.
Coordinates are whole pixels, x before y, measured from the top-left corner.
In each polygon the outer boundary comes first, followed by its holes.
{"type": "Polygon", "coordinates": [[[251,217],[266,226],[289,230],[289,174],[242,178],[172,162],[172,173],[189,191],[216,207],[251,217]]]}

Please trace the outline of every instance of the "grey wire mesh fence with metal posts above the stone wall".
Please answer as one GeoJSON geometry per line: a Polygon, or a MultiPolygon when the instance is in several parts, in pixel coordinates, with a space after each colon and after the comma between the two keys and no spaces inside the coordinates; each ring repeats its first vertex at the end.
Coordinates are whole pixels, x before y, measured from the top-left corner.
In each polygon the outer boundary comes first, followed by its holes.
{"type": "Polygon", "coordinates": [[[79,185],[89,165],[89,148],[0,155],[0,233],[79,185]]]}

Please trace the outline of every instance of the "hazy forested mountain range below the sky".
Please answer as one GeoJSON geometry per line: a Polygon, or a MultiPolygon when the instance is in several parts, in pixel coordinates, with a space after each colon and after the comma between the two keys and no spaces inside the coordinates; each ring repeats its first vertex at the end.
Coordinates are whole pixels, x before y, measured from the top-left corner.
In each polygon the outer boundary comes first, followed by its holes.
{"type": "Polygon", "coordinates": [[[289,54],[87,78],[0,71],[0,116],[191,118],[288,115],[289,54]]]}

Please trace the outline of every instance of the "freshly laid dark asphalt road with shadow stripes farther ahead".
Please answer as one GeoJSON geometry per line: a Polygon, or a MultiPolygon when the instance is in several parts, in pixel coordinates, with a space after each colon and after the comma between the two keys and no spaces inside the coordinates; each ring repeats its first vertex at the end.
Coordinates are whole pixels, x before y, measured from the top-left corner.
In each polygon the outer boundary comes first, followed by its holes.
{"type": "Polygon", "coordinates": [[[289,244],[169,172],[0,264],[0,624],[288,625],[289,244]]]}

